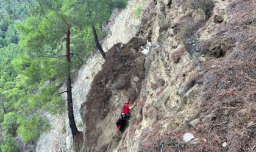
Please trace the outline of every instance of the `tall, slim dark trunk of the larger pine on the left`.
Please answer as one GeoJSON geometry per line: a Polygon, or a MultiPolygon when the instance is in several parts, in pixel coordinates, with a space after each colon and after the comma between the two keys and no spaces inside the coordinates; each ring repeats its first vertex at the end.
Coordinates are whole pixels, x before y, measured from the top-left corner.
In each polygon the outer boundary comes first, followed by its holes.
{"type": "Polygon", "coordinates": [[[69,126],[71,128],[71,132],[73,135],[73,139],[77,133],[76,122],[74,120],[74,111],[73,111],[73,101],[72,101],[72,87],[71,87],[71,77],[70,77],[70,25],[68,25],[68,29],[66,30],[66,90],[67,90],[67,97],[68,97],[68,120],[69,126]]]}

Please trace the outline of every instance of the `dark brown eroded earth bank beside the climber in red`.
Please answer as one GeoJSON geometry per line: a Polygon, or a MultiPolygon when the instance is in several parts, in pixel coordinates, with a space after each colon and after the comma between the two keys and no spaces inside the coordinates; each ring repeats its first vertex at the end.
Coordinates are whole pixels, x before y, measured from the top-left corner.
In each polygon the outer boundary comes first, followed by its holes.
{"type": "Polygon", "coordinates": [[[80,109],[85,117],[85,145],[91,151],[113,150],[121,139],[113,127],[124,102],[140,94],[145,55],[138,51],[144,44],[141,38],[115,44],[91,83],[87,102],[80,109]]]}

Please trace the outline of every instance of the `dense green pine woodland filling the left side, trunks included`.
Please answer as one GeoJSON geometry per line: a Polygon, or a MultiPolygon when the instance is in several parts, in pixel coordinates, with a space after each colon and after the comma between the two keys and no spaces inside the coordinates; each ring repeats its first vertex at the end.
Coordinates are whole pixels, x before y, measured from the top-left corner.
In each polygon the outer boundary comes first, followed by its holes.
{"type": "Polygon", "coordinates": [[[17,136],[35,144],[51,129],[48,114],[68,111],[76,136],[71,71],[96,48],[105,58],[99,44],[108,33],[104,24],[125,6],[126,0],[0,1],[1,151],[19,151],[17,136]]]}

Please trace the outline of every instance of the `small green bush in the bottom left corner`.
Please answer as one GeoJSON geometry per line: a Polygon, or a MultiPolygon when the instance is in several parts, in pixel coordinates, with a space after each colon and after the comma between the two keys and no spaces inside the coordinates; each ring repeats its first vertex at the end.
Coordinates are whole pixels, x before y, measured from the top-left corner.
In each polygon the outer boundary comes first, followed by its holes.
{"type": "Polygon", "coordinates": [[[18,146],[16,145],[16,140],[14,137],[8,136],[3,142],[1,142],[1,151],[2,152],[18,152],[18,146]]]}

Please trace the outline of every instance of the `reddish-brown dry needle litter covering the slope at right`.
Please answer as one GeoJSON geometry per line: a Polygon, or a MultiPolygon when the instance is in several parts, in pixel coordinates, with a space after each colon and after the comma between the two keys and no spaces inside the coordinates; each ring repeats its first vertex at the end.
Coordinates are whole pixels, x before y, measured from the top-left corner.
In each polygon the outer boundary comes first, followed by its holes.
{"type": "MultiPolygon", "coordinates": [[[[255,8],[254,1],[236,0],[229,5],[229,22],[222,22],[216,30],[225,31],[235,45],[229,46],[221,58],[205,61],[200,73],[187,84],[204,84],[202,105],[188,122],[210,114],[215,116],[195,127],[184,125],[160,136],[154,131],[143,139],[140,151],[256,151],[255,8]],[[182,142],[186,132],[205,142],[196,145],[182,142]],[[227,147],[222,147],[224,142],[227,147]]],[[[216,35],[210,45],[224,37],[216,35]]],[[[171,84],[181,76],[177,75],[171,84]]]]}

